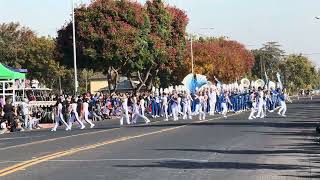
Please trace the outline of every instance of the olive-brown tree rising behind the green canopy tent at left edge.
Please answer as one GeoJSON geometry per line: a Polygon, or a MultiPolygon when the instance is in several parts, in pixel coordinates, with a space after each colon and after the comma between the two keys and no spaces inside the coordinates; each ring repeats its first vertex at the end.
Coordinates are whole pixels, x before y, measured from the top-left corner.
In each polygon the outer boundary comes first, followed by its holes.
{"type": "Polygon", "coordinates": [[[50,37],[37,37],[19,23],[0,25],[1,63],[28,69],[27,78],[37,79],[50,88],[56,85],[63,68],[54,58],[55,42],[50,37]]]}

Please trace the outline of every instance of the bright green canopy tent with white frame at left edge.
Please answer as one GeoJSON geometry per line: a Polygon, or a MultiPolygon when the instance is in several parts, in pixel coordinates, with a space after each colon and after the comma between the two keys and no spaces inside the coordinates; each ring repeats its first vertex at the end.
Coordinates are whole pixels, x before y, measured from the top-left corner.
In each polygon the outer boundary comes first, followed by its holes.
{"type": "Polygon", "coordinates": [[[9,96],[12,97],[13,102],[15,102],[15,90],[17,88],[15,80],[25,80],[25,78],[26,75],[24,73],[14,71],[13,69],[10,69],[7,66],[0,63],[0,85],[2,85],[2,98],[5,100],[6,96],[9,96]]]}

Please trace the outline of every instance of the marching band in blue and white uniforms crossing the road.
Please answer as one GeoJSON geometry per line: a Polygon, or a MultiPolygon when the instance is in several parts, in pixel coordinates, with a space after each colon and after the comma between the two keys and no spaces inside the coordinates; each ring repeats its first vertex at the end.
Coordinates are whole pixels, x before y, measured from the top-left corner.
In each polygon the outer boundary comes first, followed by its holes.
{"type": "MultiPolygon", "coordinates": [[[[152,89],[151,93],[130,94],[121,93],[114,94],[113,98],[118,98],[118,106],[120,107],[120,125],[136,124],[139,119],[143,119],[146,124],[151,121],[145,115],[150,114],[152,118],[163,117],[164,121],[168,121],[171,117],[173,121],[178,121],[181,117],[183,120],[198,117],[199,120],[205,120],[206,115],[221,114],[227,118],[228,112],[239,113],[251,110],[248,119],[265,118],[268,113],[274,112],[279,108],[278,114],[286,116],[286,101],[290,101],[285,89],[275,87],[276,83],[269,82],[265,84],[263,80],[250,82],[248,79],[242,79],[241,84],[237,83],[229,85],[204,85],[196,88],[195,92],[190,92],[185,86],[169,87],[165,89],[152,89]]],[[[90,128],[94,127],[92,121],[89,120],[89,106],[92,106],[92,96],[85,94],[83,97],[72,98],[70,105],[69,123],[65,121],[64,101],[69,101],[60,97],[56,105],[56,123],[52,131],[56,131],[59,122],[66,126],[66,130],[71,130],[74,121],[80,124],[80,129],[84,129],[85,125],[81,121],[90,124],[90,128]],[[80,104],[79,104],[79,98],[80,104]],[[82,107],[78,112],[78,106],[82,107]],[[79,113],[81,116],[79,117],[79,113]]],[[[99,99],[94,97],[93,99],[99,99]]],[[[100,107],[100,106],[99,106],[100,107]]]]}

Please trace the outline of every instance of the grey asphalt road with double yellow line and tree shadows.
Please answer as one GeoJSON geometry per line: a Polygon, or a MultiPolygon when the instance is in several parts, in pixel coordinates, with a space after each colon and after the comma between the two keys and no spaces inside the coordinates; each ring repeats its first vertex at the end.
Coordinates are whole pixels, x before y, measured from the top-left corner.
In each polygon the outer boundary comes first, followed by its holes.
{"type": "Polygon", "coordinates": [[[288,105],[287,118],[153,122],[119,128],[0,136],[1,180],[320,179],[320,98],[288,105]]]}

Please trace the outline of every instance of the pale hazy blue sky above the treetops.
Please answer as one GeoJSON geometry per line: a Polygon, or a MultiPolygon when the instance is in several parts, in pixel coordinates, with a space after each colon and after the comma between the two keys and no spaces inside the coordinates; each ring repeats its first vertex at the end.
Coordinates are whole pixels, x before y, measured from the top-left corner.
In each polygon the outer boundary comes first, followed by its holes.
{"type": "MultiPolygon", "coordinates": [[[[320,0],[165,1],[188,14],[189,33],[225,36],[249,49],[276,41],[288,54],[306,54],[320,66],[320,20],[315,19],[320,16],[320,0]]],[[[0,0],[0,4],[0,23],[19,22],[39,36],[55,37],[71,19],[71,0],[0,0]]]]}

